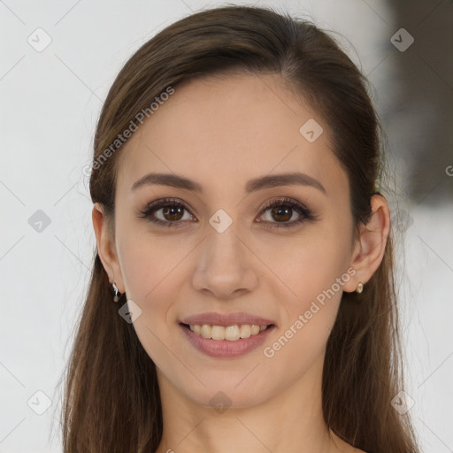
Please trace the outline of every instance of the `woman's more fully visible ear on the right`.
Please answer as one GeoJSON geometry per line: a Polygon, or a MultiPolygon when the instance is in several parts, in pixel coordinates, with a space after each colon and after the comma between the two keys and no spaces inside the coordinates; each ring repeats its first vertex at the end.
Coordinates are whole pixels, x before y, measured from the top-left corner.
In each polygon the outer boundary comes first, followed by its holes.
{"type": "Polygon", "coordinates": [[[366,225],[360,224],[360,233],[354,246],[350,266],[356,270],[352,279],[343,286],[347,292],[354,292],[359,281],[364,285],[376,272],[386,250],[390,232],[390,213],[383,196],[373,195],[372,214],[366,225]]]}

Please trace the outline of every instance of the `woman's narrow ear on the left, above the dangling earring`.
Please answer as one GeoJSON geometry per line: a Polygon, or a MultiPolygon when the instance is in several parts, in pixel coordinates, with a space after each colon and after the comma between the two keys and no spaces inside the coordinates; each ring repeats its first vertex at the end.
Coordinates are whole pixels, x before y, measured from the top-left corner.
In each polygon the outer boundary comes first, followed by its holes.
{"type": "Polygon", "coordinates": [[[107,227],[104,216],[104,207],[101,203],[95,203],[92,211],[93,227],[96,234],[97,254],[101,258],[109,281],[115,281],[120,293],[125,292],[123,276],[119,266],[119,260],[115,250],[115,244],[111,238],[111,232],[107,227]]]}

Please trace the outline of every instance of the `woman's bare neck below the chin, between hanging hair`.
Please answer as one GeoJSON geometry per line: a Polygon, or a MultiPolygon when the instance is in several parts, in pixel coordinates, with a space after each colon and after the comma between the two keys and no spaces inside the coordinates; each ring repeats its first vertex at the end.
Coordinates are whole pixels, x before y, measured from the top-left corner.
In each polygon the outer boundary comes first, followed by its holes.
{"type": "Polygon", "coordinates": [[[160,374],[164,431],[157,453],[343,451],[322,414],[323,358],[319,357],[303,379],[273,397],[249,407],[232,405],[223,411],[196,404],[160,374]]]}

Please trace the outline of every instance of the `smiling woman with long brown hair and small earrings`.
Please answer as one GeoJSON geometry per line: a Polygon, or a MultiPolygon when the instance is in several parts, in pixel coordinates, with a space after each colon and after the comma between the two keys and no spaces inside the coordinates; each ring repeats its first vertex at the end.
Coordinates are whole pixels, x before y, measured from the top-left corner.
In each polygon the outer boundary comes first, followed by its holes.
{"type": "Polygon", "coordinates": [[[96,129],[66,452],[419,451],[379,132],[333,39],[270,9],[135,52],[96,129]]]}

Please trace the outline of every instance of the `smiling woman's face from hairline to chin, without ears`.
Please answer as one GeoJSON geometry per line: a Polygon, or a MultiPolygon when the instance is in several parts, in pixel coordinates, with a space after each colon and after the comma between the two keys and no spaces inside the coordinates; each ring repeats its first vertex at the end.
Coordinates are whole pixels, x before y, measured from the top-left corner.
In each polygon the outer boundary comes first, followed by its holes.
{"type": "Polygon", "coordinates": [[[161,388],[235,407],[319,388],[342,290],[357,287],[349,183],[328,140],[279,76],[243,74],[176,87],[127,142],[114,280],[142,311],[161,388]],[[280,184],[287,173],[303,174],[280,184]]]}

